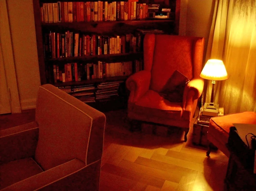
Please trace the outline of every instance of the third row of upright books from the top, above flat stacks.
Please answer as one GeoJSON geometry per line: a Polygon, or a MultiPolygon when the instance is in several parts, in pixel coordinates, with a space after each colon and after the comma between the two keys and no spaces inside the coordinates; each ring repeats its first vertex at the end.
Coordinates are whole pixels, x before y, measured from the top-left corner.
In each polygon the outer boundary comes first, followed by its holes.
{"type": "MultiPolygon", "coordinates": [[[[135,60],[135,72],[142,70],[142,62],[135,60]]],[[[63,65],[53,65],[54,83],[90,80],[113,76],[129,76],[132,72],[132,61],[106,63],[67,63],[63,65]]]]}

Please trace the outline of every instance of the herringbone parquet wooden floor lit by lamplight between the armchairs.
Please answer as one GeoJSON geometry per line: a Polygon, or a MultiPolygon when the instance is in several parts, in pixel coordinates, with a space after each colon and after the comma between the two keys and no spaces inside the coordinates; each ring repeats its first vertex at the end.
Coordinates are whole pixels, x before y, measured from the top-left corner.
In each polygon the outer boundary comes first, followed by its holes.
{"type": "MultiPolygon", "coordinates": [[[[141,132],[131,133],[125,110],[105,114],[100,191],[223,190],[228,158],[220,151],[206,157],[205,148],[191,143],[192,129],[185,143],[178,128],[167,135],[166,128],[157,127],[153,135],[152,126],[144,124],[141,132]]],[[[3,116],[10,126],[8,115],[0,115],[0,124],[3,116]]]]}

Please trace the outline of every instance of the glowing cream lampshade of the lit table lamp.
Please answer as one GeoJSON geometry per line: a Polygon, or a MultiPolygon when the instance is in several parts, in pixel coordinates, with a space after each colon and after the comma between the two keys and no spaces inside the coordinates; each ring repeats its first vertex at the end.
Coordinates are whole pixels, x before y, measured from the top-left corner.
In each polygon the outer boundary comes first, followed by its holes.
{"type": "Polygon", "coordinates": [[[222,60],[210,59],[206,62],[200,77],[207,80],[227,80],[228,74],[222,60]]]}

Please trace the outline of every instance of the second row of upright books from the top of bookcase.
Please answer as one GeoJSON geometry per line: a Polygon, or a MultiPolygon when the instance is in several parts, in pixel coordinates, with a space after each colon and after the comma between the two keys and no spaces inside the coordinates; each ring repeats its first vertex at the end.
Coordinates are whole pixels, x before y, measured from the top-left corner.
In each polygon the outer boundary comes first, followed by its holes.
{"type": "Polygon", "coordinates": [[[44,33],[46,59],[142,51],[142,34],[88,35],[67,31],[44,33]]]}

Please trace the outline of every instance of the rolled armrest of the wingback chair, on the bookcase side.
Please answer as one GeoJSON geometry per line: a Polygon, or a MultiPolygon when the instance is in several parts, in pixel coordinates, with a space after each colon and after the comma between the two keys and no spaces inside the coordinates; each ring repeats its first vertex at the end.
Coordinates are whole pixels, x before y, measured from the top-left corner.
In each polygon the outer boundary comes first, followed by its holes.
{"type": "Polygon", "coordinates": [[[146,70],[136,72],[126,80],[126,87],[131,91],[128,102],[136,102],[149,90],[151,73],[146,70]]]}

